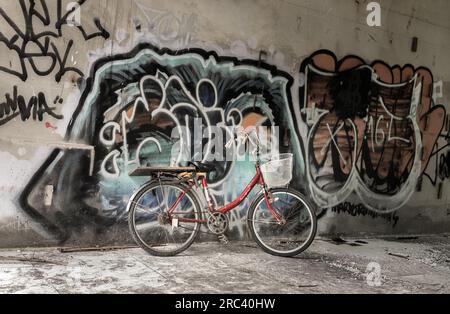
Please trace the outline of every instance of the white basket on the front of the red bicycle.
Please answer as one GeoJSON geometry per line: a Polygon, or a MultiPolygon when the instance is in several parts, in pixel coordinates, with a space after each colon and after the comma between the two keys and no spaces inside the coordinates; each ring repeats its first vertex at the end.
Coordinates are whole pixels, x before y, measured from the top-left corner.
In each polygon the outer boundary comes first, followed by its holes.
{"type": "Polygon", "coordinates": [[[292,181],[293,159],[293,154],[280,154],[261,165],[267,186],[284,187],[292,181]]]}

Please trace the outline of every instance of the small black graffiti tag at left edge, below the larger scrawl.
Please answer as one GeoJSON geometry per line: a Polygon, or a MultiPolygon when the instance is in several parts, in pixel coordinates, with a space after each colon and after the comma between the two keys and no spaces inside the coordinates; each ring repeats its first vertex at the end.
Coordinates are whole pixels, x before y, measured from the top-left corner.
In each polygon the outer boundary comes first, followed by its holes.
{"type": "MultiPolygon", "coordinates": [[[[28,119],[43,121],[44,115],[49,115],[55,119],[63,119],[62,115],[55,113],[56,107],[49,107],[44,93],[32,96],[28,102],[24,96],[18,94],[17,86],[14,86],[12,96],[5,95],[6,100],[0,103],[0,126],[20,116],[22,121],[28,119]]],[[[57,97],[53,104],[61,104],[62,98],[57,97]]]]}

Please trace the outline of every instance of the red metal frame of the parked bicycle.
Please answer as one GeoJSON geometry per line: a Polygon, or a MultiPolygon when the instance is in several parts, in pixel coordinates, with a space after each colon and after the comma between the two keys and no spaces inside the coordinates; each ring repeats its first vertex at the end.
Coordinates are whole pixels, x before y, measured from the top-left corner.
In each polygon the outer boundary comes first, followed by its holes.
{"type": "MultiPolygon", "coordinates": [[[[245,187],[245,189],[241,192],[241,194],[238,196],[238,198],[236,198],[234,201],[230,202],[229,204],[226,204],[225,206],[216,209],[214,206],[214,203],[212,201],[212,198],[209,194],[209,190],[208,190],[208,183],[206,181],[206,175],[201,175],[198,178],[194,179],[194,180],[199,180],[201,181],[201,185],[203,188],[203,192],[206,198],[206,201],[208,203],[208,210],[210,213],[215,213],[215,212],[219,212],[222,214],[226,214],[228,212],[230,212],[231,210],[235,209],[236,207],[238,207],[240,204],[242,204],[242,202],[248,197],[248,195],[250,194],[250,192],[253,190],[253,188],[258,185],[258,183],[261,185],[262,191],[264,193],[264,199],[266,201],[266,205],[269,208],[269,211],[272,213],[273,217],[277,220],[278,223],[281,222],[281,215],[277,213],[277,211],[275,210],[275,208],[273,208],[272,206],[272,200],[271,200],[271,193],[268,191],[267,187],[266,187],[266,183],[264,182],[264,177],[261,173],[261,169],[259,167],[259,163],[256,164],[256,174],[253,177],[253,179],[250,181],[250,183],[245,187]]],[[[183,200],[183,198],[186,196],[187,193],[189,193],[189,191],[192,190],[192,188],[195,186],[195,181],[192,180],[189,183],[189,186],[187,187],[186,190],[184,190],[177,198],[177,200],[175,201],[175,203],[171,206],[171,208],[168,210],[168,214],[169,214],[169,219],[172,220],[172,216],[173,213],[175,211],[175,209],[177,208],[177,206],[181,203],[181,201],[183,200]]],[[[190,223],[206,223],[208,222],[208,220],[204,220],[204,219],[191,219],[191,218],[178,218],[179,222],[190,222],[190,223]]]]}

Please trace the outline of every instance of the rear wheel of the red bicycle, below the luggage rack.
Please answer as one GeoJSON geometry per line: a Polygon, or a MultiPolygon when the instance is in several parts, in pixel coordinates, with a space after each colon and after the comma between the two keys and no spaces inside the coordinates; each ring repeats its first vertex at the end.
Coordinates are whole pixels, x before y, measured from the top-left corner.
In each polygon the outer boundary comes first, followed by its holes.
{"type": "Polygon", "coordinates": [[[158,181],[141,188],[129,202],[128,225],[134,241],[145,251],[156,256],[174,256],[195,241],[198,222],[172,224],[168,210],[176,205],[173,217],[177,219],[201,219],[199,203],[192,191],[180,200],[186,190],[178,182],[158,181]],[[179,202],[176,204],[176,202],[179,202]]]}

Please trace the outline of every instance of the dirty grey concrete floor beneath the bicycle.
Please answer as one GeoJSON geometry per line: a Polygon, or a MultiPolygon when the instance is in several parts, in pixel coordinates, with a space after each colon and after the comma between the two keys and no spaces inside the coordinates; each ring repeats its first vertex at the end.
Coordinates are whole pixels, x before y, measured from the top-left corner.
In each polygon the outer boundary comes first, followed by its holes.
{"type": "Polygon", "coordinates": [[[341,244],[318,239],[296,258],[271,256],[248,242],[197,243],[173,258],[141,249],[0,250],[0,293],[449,292],[446,236],[341,244]],[[378,263],[381,276],[377,264],[367,270],[369,263],[378,263]]]}

